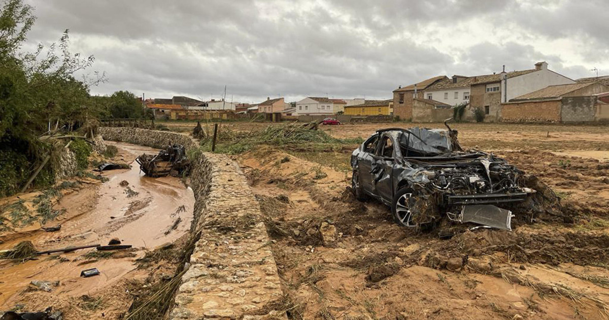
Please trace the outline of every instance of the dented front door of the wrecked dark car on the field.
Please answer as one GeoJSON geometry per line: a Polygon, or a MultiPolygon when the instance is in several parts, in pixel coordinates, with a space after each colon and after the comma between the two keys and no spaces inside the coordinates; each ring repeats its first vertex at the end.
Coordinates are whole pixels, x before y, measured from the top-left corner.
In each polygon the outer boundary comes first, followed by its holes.
{"type": "Polygon", "coordinates": [[[395,164],[396,143],[391,135],[381,136],[372,157],[371,177],[373,193],[387,204],[393,201],[393,166],[395,164]]]}

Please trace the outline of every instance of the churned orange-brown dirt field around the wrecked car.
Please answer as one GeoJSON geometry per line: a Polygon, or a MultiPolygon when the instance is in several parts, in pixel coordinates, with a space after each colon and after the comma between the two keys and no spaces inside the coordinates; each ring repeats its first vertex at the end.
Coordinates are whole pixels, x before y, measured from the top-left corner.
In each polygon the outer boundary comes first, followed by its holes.
{"type": "MultiPolygon", "coordinates": [[[[322,129],[354,138],[393,126],[322,129]]],[[[607,127],[452,127],[464,148],[493,151],[540,177],[576,214],[574,223],[535,221],[440,240],[398,227],[382,204],[353,199],[351,146],[258,147],[235,158],[266,215],[289,318],[609,318],[607,127]]]]}

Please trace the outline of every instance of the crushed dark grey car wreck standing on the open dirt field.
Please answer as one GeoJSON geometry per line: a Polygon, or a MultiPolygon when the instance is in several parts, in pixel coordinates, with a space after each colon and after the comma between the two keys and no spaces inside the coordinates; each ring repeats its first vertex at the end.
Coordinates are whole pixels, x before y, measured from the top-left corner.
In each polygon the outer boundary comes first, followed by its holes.
{"type": "Polygon", "coordinates": [[[464,151],[457,131],[383,129],[351,155],[352,188],[374,197],[405,227],[448,221],[511,230],[513,213],[529,221],[562,216],[554,192],[534,176],[487,152],[464,151]]]}

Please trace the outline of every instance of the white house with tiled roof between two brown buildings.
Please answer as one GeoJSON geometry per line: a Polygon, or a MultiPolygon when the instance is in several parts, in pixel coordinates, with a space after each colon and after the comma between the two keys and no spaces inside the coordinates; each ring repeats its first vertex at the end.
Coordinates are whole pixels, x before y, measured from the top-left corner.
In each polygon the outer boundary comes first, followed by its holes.
{"type": "Polygon", "coordinates": [[[440,101],[449,105],[460,105],[470,102],[471,77],[454,75],[451,79],[442,79],[430,85],[424,91],[424,99],[440,101]]]}

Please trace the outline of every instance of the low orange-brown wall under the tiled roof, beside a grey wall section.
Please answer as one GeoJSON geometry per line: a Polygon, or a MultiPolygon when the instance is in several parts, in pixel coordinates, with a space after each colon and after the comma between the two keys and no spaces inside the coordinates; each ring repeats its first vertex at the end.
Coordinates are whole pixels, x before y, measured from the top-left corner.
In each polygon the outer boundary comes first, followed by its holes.
{"type": "Polygon", "coordinates": [[[504,122],[560,122],[560,100],[508,102],[502,104],[504,122]]]}

